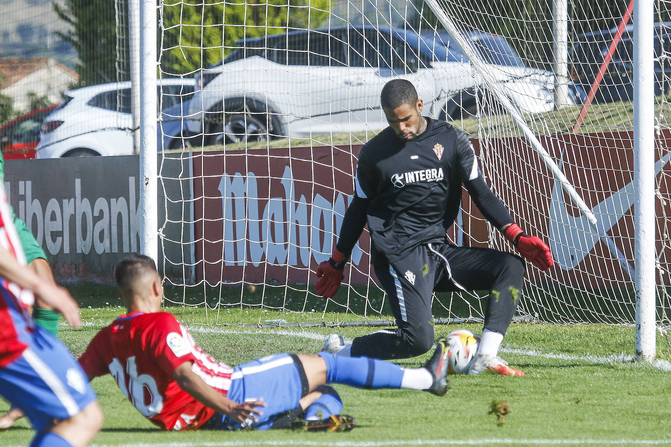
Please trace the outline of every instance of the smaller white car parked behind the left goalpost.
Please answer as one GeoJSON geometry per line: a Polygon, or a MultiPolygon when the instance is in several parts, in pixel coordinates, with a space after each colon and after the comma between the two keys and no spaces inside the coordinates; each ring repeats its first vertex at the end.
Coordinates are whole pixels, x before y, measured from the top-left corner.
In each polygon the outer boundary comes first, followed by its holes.
{"type": "MultiPolygon", "coordinates": [[[[65,100],[42,124],[37,158],[133,153],[130,86],[130,81],[110,82],[65,92],[65,100]]],[[[159,151],[190,145],[185,122],[193,86],[193,78],[158,80],[159,151]]]]}

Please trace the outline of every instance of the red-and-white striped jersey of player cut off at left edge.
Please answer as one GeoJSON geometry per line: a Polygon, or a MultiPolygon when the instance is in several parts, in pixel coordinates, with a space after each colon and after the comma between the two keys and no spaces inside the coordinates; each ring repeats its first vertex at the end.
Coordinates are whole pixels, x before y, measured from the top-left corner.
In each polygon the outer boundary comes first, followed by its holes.
{"type": "MultiPolygon", "coordinates": [[[[25,265],[25,255],[14,227],[11,210],[7,204],[5,189],[0,184],[0,245],[9,251],[20,265],[25,265]]],[[[0,277],[0,367],[21,357],[28,346],[22,338],[33,330],[33,320],[28,313],[28,306],[34,302],[30,290],[23,290],[18,285],[0,277]]]]}

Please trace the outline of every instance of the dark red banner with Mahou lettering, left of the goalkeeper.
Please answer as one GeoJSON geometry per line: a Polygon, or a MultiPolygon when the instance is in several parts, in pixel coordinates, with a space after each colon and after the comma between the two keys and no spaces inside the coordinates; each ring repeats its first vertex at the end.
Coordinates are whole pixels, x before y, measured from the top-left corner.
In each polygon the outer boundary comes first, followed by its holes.
{"type": "MultiPolygon", "coordinates": [[[[208,152],[193,159],[198,279],[315,281],[354,192],[360,146],[208,152]],[[311,278],[311,279],[310,279],[311,278]]],[[[369,241],[352,283],[370,273],[369,241]]]]}

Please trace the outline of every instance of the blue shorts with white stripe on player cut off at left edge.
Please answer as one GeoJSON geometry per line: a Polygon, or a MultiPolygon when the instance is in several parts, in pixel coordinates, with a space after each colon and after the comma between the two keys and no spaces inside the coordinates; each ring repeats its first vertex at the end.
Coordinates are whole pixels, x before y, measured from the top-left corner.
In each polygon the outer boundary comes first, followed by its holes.
{"type": "Polygon", "coordinates": [[[95,401],[84,371],[60,341],[39,327],[21,340],[28,341],[28,348],[0,368],[0,395],[22,409],[36,430],[95,401]]]}

